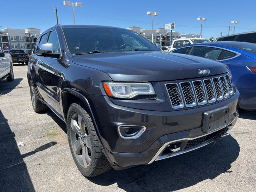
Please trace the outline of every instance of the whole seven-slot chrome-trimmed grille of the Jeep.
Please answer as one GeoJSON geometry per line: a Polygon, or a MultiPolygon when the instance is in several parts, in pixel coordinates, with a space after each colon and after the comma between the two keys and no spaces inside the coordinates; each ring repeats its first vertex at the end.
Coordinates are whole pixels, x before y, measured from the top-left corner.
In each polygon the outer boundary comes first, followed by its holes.
{"type": "Polygon", "coordinates": [[[212,79],[166,84],[174,109],[211,104],[234,94],[228,75],[212,79]]]}

